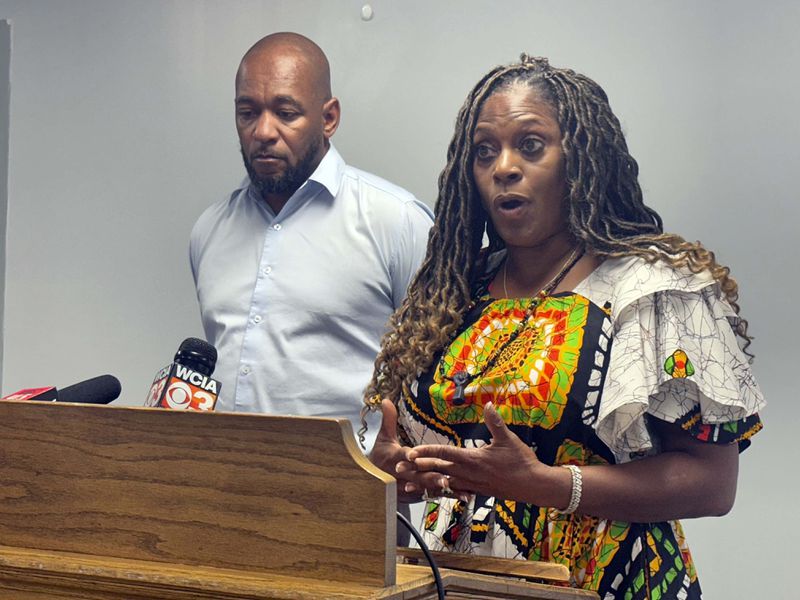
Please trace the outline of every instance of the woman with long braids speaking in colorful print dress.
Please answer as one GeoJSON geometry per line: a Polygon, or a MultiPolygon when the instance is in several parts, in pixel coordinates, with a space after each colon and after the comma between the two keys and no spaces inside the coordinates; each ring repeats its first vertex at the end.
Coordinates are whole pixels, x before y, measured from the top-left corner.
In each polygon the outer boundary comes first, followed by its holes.
{"type": "Polygon", "coordinates": [[[367,391],[371,458],[428,501],[433,549],[694,599],[677,519],[730,510],[764,400],[728,268],[664,233],[637,175],[591,79],[523,55],[478,82],[367,391]]]}

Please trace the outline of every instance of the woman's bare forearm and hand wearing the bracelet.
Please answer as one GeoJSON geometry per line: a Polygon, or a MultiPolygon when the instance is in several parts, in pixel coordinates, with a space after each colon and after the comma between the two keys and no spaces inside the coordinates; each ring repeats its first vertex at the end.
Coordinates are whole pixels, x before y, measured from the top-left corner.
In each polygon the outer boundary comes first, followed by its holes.
{"type": "MultiPolygon", "coordinates": [[[[572,492],[569,470],[547,466],[484,407],[492,442],[483,448],[417,446],[407,458],[421,485],[449,476],[454,492],[478,492],[549,508],[565,508],[572,492]]],[[[581,466],[578,513],[627,522],[722,515],[733,505],[738,472],[736,444],[701,442],[680,425],[651,418],[661,452],[622,464],[581,466]]],[[[448,481],[448,480],[446,480],[448,481]]]]}

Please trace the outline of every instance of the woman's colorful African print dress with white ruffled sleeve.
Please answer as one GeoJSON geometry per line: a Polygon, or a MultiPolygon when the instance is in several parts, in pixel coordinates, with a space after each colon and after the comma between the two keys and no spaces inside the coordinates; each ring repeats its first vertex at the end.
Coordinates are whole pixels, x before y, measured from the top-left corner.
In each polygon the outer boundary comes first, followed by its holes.
{"type": "MultiPolygon", "coordinates": [[[[489,400],[550,465],[658,453],[650,416],[742,449],[761,428],[764,399],[732,329],[737,317],[710,275],[607,260],[531,315],[530,300],[489,297],[486,282],[502,257],[492,258],[469,325],[399,405],[414,445],[487,444],[489,400]],[[454,401],[459,371],[472,379],[454,401]]],[[[603,599],[701,597],[678,522],[624,523],[580,508],[562,515],[478,495],[429,501],[422,527],[434,550],[564,564],[573,585],[603,599]]]]}

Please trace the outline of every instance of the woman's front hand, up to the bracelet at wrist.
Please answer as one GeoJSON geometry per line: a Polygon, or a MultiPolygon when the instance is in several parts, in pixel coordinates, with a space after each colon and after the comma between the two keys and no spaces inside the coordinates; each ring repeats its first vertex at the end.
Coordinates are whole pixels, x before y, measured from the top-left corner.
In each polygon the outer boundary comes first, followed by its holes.
{"type": "Polygon", "coordinates": [[[454,493],[565,507],[572,485],[569,472],[541,463],[506,427],[491,403],[484,406],[483,420],[492,441],[482,448],[427,445],[411,449],[406,460],[416,469],[417,485],[441,490],[449,483],[454,493]]]}

